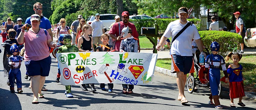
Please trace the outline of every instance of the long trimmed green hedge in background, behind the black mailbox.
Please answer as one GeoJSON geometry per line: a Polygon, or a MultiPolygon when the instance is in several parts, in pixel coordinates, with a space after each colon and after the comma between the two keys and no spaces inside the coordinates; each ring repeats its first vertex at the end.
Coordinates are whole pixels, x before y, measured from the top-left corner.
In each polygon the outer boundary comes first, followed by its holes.
{"type": "MultiPolygon", "coordinates": [[[[129,22],[133,23],[136,26],[136,29],[140,35],[141,33],[141,27],[154,27],[155,21],[156,23],[158,23],[159,26],[159,32],[160,33],[164,33],[164,31],[166,30],[168,24],[170,22],[173,22],[177,19],[142,19],[142,20],[134,20],[134,19],[130,19],[129,22]]],[[[195,23],[195,26],[197,27],[197,29],[200,29],[200,19],[187,19],[188,21],[193,21],[195,23]]]]}

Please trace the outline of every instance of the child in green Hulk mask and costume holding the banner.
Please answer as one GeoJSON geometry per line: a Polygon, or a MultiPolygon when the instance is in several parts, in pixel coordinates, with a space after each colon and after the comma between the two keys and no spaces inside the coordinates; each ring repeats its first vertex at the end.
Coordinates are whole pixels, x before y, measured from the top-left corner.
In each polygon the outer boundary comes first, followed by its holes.
{"type": "MultiPolygon", "coordinates": [[[[64,41],[65,45],[62,45],[61,47],[59,47],[59,50],[57,53],[79,52],[78,47],[71,44],[71,42],[72,42],[71,35],[69,35],[69,34],[64,35],[63,41],[64,41]]],[[[65,95],[67,98],[73,98],[73,95],[71,94],[71,86],[70,85],[66,86],[65,95]]]]}

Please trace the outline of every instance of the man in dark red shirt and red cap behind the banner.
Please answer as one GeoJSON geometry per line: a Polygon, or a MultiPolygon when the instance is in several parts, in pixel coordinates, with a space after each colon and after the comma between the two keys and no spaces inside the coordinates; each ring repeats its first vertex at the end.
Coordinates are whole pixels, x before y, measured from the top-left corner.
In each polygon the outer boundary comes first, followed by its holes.
{"type": "Polygon", "coordinates": [[[108,34],[111,38],[116,39],[115,45],[113,45],[115,51],[119,51],[120,43],[122,41],[121,39],[121,31],[124,27],[129,26],[132,29],[132,36],[134,38],[138,39],[138,50],[140,52],[140,45],[139,45],[139,34],[136,30],[136,27],[133,23],[129,22],[129,13],[127,11],[123,11],[122,13],[122,21],[115,23],[112,28],[109,30],[108,34]],[[119,29],[119,23],[120,23],[120,29],[119,29]]]}

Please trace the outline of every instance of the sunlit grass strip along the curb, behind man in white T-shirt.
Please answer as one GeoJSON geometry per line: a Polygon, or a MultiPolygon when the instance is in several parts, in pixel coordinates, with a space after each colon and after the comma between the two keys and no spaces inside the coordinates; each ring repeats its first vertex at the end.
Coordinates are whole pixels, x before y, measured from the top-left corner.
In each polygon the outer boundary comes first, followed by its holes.
{"type": "MultiPolygon", "coordinates": [[[[245,56],[239,61],[243,66],[243,75],[245,77],[244,85],[245,91],[256,91],[256,56],[245,56]]],[[[226,62],[226,67],[233,63],[232,60],[226,62]]],[[[157,60],[156,66],[171,69],[171,60],[157,60]]],[[[223,72],[221,71],[221,77],[223,77],[223,72]]]]}

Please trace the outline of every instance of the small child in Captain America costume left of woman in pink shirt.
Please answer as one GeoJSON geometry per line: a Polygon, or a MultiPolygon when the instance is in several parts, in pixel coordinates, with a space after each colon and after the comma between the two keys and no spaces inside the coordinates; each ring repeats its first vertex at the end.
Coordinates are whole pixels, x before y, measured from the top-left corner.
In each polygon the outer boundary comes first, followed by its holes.
{"type": "Polygon", "coordinates": [[[19,47],[16,44],[11,45],[10,51],[12,56],[8,58],[9,66],[11,70],[9,72],[9,81],[10,81],[10,91],[14,93],[14,81],[16,79],[17,84],[17,92],[22,93],[22,83],[21,83],[21,72],[20,72],[20,65],[21,62],[24,60],[23,57],[19,56],[19,47]]]}

